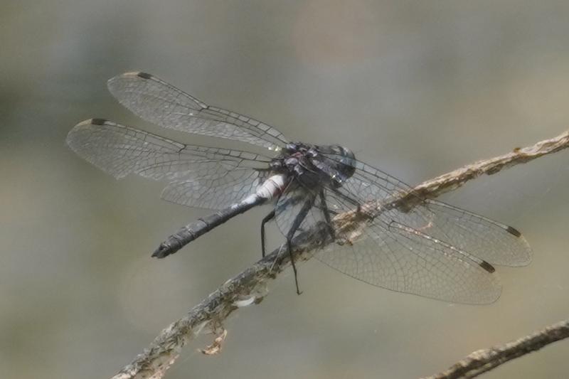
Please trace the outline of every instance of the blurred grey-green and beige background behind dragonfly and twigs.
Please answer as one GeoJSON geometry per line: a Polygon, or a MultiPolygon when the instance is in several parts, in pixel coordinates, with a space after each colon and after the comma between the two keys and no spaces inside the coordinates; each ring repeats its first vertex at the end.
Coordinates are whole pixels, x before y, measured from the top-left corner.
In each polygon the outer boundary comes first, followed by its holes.
{"type": "MultiPolygon", "coordinates": [[[[64,144],[90,117],[136,119],[105,82],[146,70],[291,139],[351,147],[418,183],[569,127],[566,1],[0,1],[0,377],[109,378],[260,256],[252,210],[167,260],[158,242],[207,210],[115,181],[64,144]]],[[[569,316],[569,151],[446,201],[519,228],[533,263],[501,299],[446,304],[310,261],[198,336],[167,378],[416,378],[569,316]]],[[[272,230],[271,242],[280,242],[272,230]]],[[[569,342],[486,378],[565,378],[569,342]]]]}

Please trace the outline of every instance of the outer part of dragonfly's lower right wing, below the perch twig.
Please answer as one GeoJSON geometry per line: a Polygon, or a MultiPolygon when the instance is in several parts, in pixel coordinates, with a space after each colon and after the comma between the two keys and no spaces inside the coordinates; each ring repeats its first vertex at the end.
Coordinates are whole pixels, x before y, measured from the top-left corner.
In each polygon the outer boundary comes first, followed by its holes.
{"type": "Polygon", "coordinates": [[[501,292],[496,274],[477,260],[398,223],[367,225],[353,245],[327,245],[316,257],[362,282],[432,299],[487,304],[501,292]]]}

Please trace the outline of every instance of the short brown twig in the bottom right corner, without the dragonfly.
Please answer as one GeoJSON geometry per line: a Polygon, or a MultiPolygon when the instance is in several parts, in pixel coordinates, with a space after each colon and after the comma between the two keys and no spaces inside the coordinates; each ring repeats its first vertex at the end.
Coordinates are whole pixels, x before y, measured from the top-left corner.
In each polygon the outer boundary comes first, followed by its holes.
{"type": "Polygon", "coordinates": [[[569,337],[569,320],[548,326],[528,336],[504,345],[474,351],[474,353],[452,365],[448,370],[423,379],[474,378],[497,366],[519,358],[550,343],[569,337]]]}

